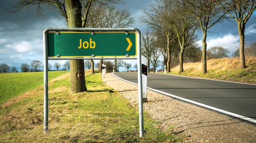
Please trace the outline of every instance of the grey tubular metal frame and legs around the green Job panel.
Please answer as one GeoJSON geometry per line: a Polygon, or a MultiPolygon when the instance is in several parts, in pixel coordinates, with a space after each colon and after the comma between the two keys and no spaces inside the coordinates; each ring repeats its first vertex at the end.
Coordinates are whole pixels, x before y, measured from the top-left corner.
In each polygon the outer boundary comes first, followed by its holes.
{"type": "Polygon", "coordinates": [[[48,60],[64,60],[64,59],[137,59],[138,64],[138,99],[139,99],[139,123],[140,123],[140,137],[143,137],[143,90],[142,90],[142,56],[141,56],[141,33],[137,28],[46,28],[43,32],[43,48],[44,48],[44,133],[48,130],[48,60]],[[137,35],[136,46],[137,56],[130,57],[48,57],[48,33],[49,32],[129,32],[134,31],[137,35]]]}

